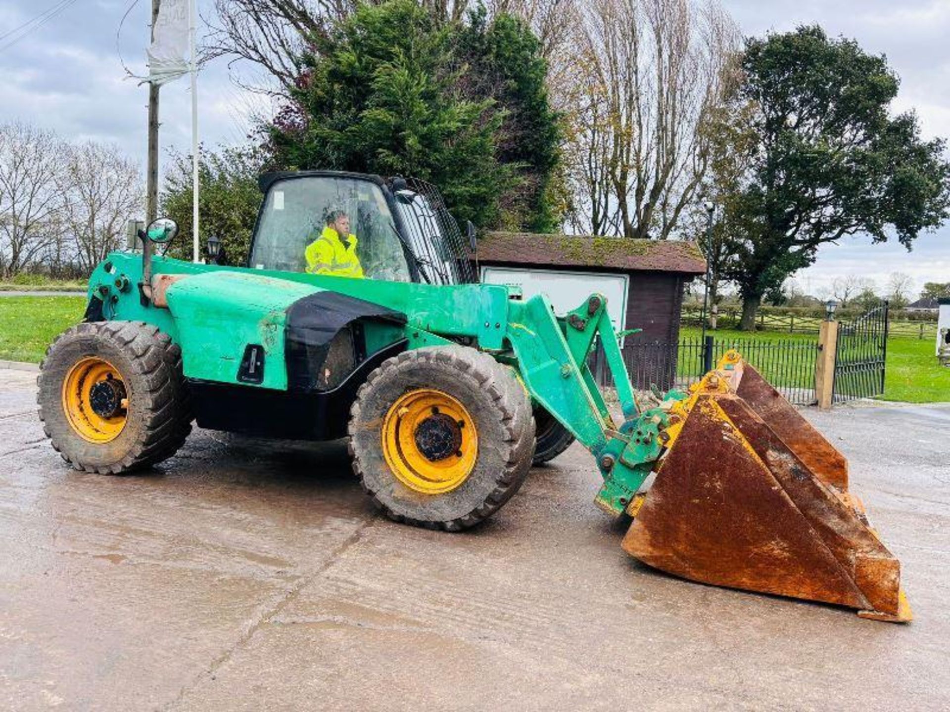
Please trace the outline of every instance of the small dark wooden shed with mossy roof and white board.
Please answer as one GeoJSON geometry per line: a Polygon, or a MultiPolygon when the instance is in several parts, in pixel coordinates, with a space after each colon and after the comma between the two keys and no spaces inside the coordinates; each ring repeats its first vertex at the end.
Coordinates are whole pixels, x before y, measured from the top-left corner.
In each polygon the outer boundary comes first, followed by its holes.
{"type": "MultiPolygon", "coordinates": [[[[675,347],[664,350],[656,368],[652,366],[663,372],[660,375],[637,376],[637,362],[646,356],[645,345],[666,347],[679,339],[683,287],[706,272],[693,242],[488,233],[479,239],[478,261],[483,282],[517,284],[525,296],[544,292],[558,313],[579,307],[599,291],[607,297],[615,328],[643,329],[623,345],[634,380],[644,386],[671,384],[675,347]]],[[[656,348],[653,353],[658,353],[656,348]]]]}

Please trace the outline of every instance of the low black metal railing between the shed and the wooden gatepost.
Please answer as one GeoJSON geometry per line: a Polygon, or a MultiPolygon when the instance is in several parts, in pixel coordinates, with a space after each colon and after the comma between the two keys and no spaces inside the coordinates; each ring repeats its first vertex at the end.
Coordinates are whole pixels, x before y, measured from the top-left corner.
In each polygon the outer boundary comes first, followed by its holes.
{"type": "MultiPolygon", "coordinates": [[[[630,380],[638,390],[686,388],[695,383],[730,348],[742,354],[790,403],[815,402],[816,339],[684,338],[673,344],[627,337],[622,348],[630,380]]],[[[613,386],[603,351],[596,347],[588,365],[598,384],[613,386]]]]}

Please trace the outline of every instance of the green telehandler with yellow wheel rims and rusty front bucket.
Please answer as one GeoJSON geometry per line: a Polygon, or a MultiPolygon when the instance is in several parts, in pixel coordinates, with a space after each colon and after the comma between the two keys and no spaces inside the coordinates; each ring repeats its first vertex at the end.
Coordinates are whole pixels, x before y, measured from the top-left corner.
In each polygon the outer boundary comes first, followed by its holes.
{"type": "Polygon", "coordinates": [[[847,492],[845,459],[738,354],[642,405],[604,297],[555,314],[544,295],[478,284],[474,231],[463,237],[432,186],[328,171],[260,186],[245,267],[157,254],[177,232],[160,218],[142,254],[110,253],[92,273],[83,322],[39,376],[40,418],[74,468],[150,467],[192,422],[346,437],[377,507],[459,531],[576,439],[603,478],[596,503],[632,517],[623,547],[645,563],[910,619],[900,564],[847,492]],[[314,234],[340,214],[366,278],[307,272],[314,234]],[[620,421],[587,366],[598,344],[620,421]]]}

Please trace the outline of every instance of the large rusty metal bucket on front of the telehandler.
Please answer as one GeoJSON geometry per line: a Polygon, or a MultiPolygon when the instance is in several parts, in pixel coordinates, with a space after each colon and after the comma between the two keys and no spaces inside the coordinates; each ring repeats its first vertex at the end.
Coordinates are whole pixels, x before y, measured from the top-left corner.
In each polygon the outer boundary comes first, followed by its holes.
{"type": "Polygon", "coordinates": [[[909,621],[900,562],[847,493],[845,458],[754,368],[731,361],[685,403],[624,550],[693,581],[909,621]]]}

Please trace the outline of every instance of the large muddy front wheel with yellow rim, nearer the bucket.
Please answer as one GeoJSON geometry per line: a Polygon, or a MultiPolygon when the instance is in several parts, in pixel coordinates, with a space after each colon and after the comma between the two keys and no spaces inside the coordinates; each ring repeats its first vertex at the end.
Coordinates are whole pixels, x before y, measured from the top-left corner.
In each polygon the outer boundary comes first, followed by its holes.
{"type": "MultiPolygon", "coordinates": [[[[418,396],[418,397],[423,397],[418,396]]],[[[427,402],[428,403],[428,402],[427,402]]],[[[428,407],[428,406],[426,406],[428,407]]],[[[451,425],[451,422],[449,422],[451,425]]],[[[406,351],[374,370],[360,386],[352,405],[350,454],[353,471],[373,503],[390,518],[432,529],[459,531],[471,527],[497,512],[522,486],[531,468],[534,451],[534,418],[531,403],[514,371],[491,356],[468,347],[434,347],[406,351]],[[432,407],[434,416],[419,416],[414,430],[403,432],[403,440],[390,440],[391,423],[407,422],[415,394],[431,394],[443,399],[443,413],[432,407]],[[400,406],[401,403],[405,403],[400,406]],[[423,423],[442,418],[449,408],[464,411],[460,419],[469,428],[448,451],[436,453],[431,461],[414,454],[421,470],[432,463],[445,462],[445,481],[416,481],[406,473],[400,460],[404,451],[419,443],[423,423]],[[472,445],[471,433],[475,434],[472,445]],[[393,456],[395,443],[397,455],[393,456]],[[462,443],[462,444],[459,444],[462,443]],[[405,447],[403,447],[405,446],[405,447]],[[389,449],[388,449],[389,447],[389,449]],[[468,448],[463,452],[463,448],[468,448]],[[457,460],[453,460],[457,458],[457,460]],[[453,479],[452,468],[459,472],[469,461],[470,469],[453,479]],[[431,487],[427,491],[427,487],[431,487]],[[440,491],[439,487],[446,488],[440,491]]],[[[438,440],[442,442],[443,440],[438,440]]],[[[424,443],[428,444],[428,443],[424,443]]],[[[423,447],[422,449],[425,449],[423,447]]],[[[420,450],[421,452],[421,450],[420,450]]],[[[411,458],[409,458],[411,460],[411,458]]],[[[411,467],[409,467],[411,469],[411,467]]]]}

